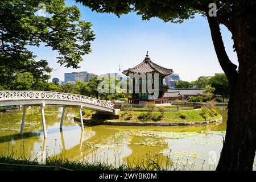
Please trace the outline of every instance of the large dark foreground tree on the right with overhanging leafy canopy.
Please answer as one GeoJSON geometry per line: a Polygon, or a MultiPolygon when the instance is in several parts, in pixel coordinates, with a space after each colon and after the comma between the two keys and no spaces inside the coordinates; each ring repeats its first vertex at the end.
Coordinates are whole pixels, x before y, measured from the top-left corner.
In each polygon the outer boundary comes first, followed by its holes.
{"type": "Polygon", "coordinates": [[[117,16],[135,12],[143,20],[152,17],[164,22],[181,23],[200,13],[208,20],[218,61],[231,88],[224,146],[217,170],[251,170],[256,150],[256,2],[213,1],[216,16],[210,10],[210,0],[76,0],[100,13],[117,16]],[[213,15],[213,16],[212,16],[213,15]],[[230,61],[221,36],[220,24],[232,34],[239,68],[230,61]]]}

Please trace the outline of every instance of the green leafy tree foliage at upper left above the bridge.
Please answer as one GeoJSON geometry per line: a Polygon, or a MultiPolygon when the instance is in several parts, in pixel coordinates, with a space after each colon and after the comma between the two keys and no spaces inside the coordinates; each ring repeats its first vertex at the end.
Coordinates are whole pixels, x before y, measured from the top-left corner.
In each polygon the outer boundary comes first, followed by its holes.
{"type": "Polygon", "coordinates": [[[35,60],[32,46],[51,47],[59,53],[57,62],[72,68],[91,51],[92,24],[80,20],[79,9],[64,0],[4,0],[0,9],[0,83],[6,89],[14,89],[17,73],[49,79],[52,69],[47,60],[35,60]]]}

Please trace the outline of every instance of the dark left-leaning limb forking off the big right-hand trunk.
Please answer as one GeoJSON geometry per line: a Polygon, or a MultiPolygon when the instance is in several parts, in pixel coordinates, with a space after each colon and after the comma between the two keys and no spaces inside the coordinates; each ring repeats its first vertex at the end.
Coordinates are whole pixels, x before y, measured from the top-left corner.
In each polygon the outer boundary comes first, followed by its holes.
{"type": "Polygon", "coordinates": [[[225,46],[222,40],[220,25],[216,17],[210,17],[207,14],[207,19],[210,27],[210,34],[212,35],[213,46],[218,57],[218,62],[221,65],[221,68],[226,74],[226,77],[229,80],[230,86],[233,86],[236,82],[236,77],[238,75],[236,69],[237,65],[233,64],[225,50],[225,46]]]}

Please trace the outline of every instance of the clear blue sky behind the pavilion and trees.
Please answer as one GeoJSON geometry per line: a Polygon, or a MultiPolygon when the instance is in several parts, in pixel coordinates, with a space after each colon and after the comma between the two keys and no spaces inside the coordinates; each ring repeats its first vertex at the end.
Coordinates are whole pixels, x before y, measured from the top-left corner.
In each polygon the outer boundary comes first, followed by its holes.
{"type": "MultiPolygon", "coordinates": [[[[73,0],[66,3],[78,6],[81,19],[92,22],[96,39],[92,42],[92,53],[84,56],[79,69],[60,67],[56,63],[57,52],[49,47],[32,48],[38,56],[36,59],[48,60],[53,68],[52,78],[64,80],[64,73],[67,72],[88,71],[98,75],[118,72],[119,64],[124,70],[141,63],[146,51],[152,61],[172,68],[181,80],[192,81],[199,76],[223,72],[214,51],[208,22],[200,15],[182,24],[164,23],[158,18],[143,21],[134,13],[122,15],[121,18],[113,14],[97,14],[73,0]]],[[[221,30],[226,51],[237,64],[231,34],[225,27],[221,30]]]]}

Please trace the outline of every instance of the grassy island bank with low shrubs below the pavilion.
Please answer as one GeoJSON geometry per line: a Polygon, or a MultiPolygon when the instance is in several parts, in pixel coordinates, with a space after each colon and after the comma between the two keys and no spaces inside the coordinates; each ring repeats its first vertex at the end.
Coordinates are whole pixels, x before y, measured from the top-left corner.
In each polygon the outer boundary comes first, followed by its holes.
{"type": "Polygon", "coordinates": [[[119,119],[109,119],[112,122],[203,122],[220,119],[216,110],[203,108],[192,111],[142,112],[119,111],[119,119]]]}

